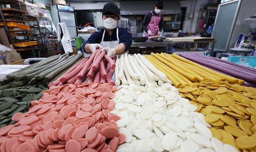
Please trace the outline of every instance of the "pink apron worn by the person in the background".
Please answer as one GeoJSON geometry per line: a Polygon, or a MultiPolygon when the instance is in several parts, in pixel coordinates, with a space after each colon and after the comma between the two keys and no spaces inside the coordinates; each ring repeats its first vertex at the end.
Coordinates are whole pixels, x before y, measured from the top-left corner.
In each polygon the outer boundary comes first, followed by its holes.
{"type": "MultiPolygon", "coordinates": [[[[152,32],[152,36],[156,36],[158,35],[158,25],[160,23],[161,20],[161,13],[159,13],[159,16],[154,16],[153,12],[151,11],[152,17],[151,20],[149,22],[149,25],[147,25],[147,29],[149,29],[152,32]]],[[[149,37],[151,35],[149,35],[147,32],[145,33],[145,37],[149,37]]]]}

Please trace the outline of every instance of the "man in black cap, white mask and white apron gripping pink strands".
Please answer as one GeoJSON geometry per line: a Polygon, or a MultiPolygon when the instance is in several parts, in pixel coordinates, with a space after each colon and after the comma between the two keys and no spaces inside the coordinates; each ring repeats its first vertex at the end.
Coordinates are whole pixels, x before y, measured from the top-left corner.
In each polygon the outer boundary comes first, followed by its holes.
{"type": "Polygon", "coordinates": [[[118,27],[120,10],[113,2],[104,5],[102,19],[105,29],[92,34],[83,44],[83,50],[87,54],[93,53],[96,49],[106,51],[107,56],[112,57],[124,52],[128,53],[133,42],[133,37],[128,28],[118,27]],[[103,46],[107,46],[103,48],[103,46]]]}

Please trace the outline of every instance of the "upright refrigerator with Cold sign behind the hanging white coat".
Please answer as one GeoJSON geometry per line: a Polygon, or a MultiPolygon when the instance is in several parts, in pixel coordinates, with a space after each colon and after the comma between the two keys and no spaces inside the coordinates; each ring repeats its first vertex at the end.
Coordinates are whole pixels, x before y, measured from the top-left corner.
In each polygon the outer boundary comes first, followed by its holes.
{"type": "Polygon", "coordinates": [[[56,28],[58,28],[58,23],[64,22],[71,38],[77,37],[74,7],[55,4],[51,6],[51,14],[56,28]]]}

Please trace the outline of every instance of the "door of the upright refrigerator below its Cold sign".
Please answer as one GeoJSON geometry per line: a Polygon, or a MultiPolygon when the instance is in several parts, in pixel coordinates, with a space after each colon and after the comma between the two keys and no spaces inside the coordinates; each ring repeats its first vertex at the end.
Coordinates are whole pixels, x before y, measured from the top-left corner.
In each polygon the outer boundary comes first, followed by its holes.
{"type": "Polygon", "coordinates": [[[60,17],[60,22],[66,23],[67,30],[69,31],[69,35],[71,38],[77,37],[76,34],[76,20],[74,16],[74,12],[63,12],[63,11],[58,11],[59,12],[59,17],[60,17]],[[68,26],[73,26],[73,27],[68,27],[68,26]]]}

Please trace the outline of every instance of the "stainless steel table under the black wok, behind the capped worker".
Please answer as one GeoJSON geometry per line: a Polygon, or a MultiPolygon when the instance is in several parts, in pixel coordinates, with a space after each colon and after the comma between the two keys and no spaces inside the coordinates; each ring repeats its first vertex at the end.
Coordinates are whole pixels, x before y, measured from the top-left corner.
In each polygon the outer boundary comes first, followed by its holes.
{"type": "Polygon", "coordinates": [[[163,42],[156,42],[156,41],[146,41],[146,42],[133,42],[131,47],[166,47],[166,52],[168,50],[169,42],[163,41],[163,42]]]}

